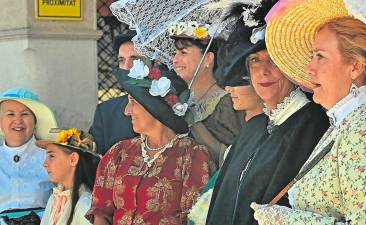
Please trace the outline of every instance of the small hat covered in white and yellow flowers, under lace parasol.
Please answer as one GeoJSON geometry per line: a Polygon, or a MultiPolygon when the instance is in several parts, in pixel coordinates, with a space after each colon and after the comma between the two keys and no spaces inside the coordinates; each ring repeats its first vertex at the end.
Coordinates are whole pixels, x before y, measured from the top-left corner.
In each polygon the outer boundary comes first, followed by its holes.
{"type": "Polygon", "coordinates": [[[169,27],[171,38],[187,38],[208,43],[215,31],[209,24],[199,24],[197,21],[174,23],[169,27]]]}

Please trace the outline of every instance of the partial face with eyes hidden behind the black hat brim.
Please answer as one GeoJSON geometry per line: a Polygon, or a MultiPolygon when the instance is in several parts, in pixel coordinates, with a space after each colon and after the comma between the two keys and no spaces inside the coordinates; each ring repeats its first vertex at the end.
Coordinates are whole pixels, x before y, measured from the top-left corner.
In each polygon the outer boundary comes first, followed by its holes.
{"type": "Polygon", "coordinates": [[[261,99],[251,85],[226,86],[225,90],[230,93],[235,110],[251,110],[260,107],[261,99]]]}

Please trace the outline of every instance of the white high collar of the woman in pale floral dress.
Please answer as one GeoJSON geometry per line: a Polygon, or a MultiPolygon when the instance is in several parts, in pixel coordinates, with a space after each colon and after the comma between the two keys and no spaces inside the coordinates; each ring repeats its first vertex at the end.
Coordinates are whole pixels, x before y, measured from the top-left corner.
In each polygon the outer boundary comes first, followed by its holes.
{"type": "Polygon", "coordinates": [[[366,103],[366,85],[358,88],[357,96],[349,93],[327,111],[331,126],[338,126],[354,109],[366,103]]]}

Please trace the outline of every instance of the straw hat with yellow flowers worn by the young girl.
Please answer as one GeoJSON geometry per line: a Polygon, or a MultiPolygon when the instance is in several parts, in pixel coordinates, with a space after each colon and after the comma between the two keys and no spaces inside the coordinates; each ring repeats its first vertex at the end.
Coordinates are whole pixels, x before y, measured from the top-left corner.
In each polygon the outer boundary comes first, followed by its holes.
{"type": "Polygon", "coordinates": [[[71,129],[51,129],[49,136],[58,133],[58,136],[53,140],[39,140],[36,141],[36,145],[42,149],[47,149],[49,144],[56,144],[61,147],[67,148],[70,151],[78,153],[86,153],[97,158],[101,158],[101,155],[96,153],[96,144],[93,141],[93,137],[84,133],[82,130],[76,128],[71,129]]]}

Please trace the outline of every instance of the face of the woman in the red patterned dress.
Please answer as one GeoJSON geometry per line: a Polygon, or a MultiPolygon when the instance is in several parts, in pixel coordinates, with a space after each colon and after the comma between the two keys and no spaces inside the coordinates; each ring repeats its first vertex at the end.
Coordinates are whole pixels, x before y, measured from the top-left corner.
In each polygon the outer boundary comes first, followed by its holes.
{"type": "Polygon", "coordinates": [[[133,130],[139,134],[149,133],[158,123],[158,120],[130,95],[128,96],[125,115],[131,116],[133,130]]]}

